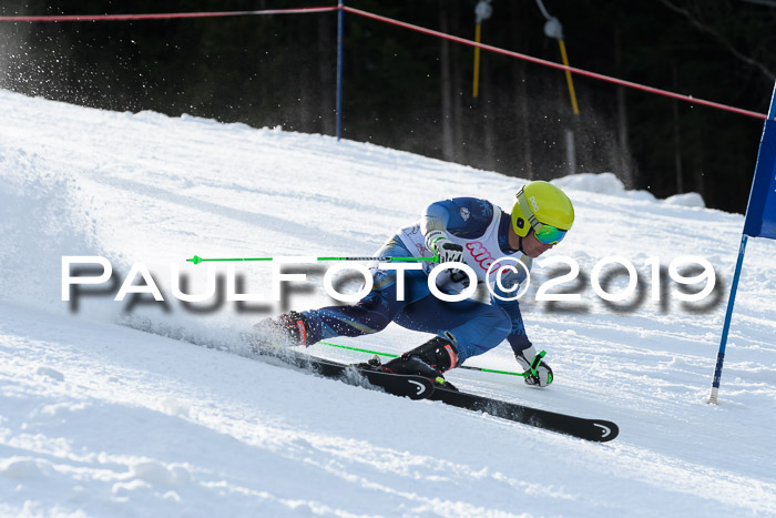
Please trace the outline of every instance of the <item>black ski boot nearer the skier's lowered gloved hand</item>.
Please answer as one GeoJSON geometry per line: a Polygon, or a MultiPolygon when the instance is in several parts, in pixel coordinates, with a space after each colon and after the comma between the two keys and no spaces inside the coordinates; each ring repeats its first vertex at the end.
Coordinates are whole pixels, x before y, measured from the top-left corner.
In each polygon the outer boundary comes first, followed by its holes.
{"type": "Polygon", "coordinates": [[[456,390],[442,373],[458,365],[458,346],[451,334],[446,338],[435,336],[425,344],[408,351],[398,358],[382,365],[382,370],[394,374],[415,374],[427,377],[438,385],[456,390]]]}

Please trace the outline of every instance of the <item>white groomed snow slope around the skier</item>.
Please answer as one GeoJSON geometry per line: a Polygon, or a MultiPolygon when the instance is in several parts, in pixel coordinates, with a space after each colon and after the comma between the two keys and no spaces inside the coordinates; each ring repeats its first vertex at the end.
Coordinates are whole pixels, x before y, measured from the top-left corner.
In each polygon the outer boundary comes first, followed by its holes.
{"type": "MultiPolygon", "coordinates": [[[[0,113],[0,515],[776,516],[772,241],[749,242],[721,404],[705,403],[742,215],[697,195],[630,192],[611,174],[558,181],[576,223],[547,255],[574,258],[581,275],[553,291],[582,301],[535,302],[568,271],[540,263],[521,304],[554,384],[448,377],[620,425],[619,438],[593,444],[247,357],[238,336],[254,322],[331,304],[330,264],[300,266],[307,282],[290,284],[283,304],[207,311],[213,301],[192,309],[172,296],[175,267],[191,293],[205,286],[208,266],[185,262],[194,254],[369,255],[430,202],[478,196],[509,211],[524,180],[329,136],[2,91],[0,113]],[[672,294],[667,266],[687,254],[716,270],[704,303],[672,294]],[[114,302],[112,286],[79,297],[75,312],[61,301],[63,255],[104,256],[120,282],[144,263],[165,303],[114,302]],[[609,255],[640,274],[623,303],[591,287],[609,255]],[[660,302],[650,257],[664,268],[660,302]]],[[[243,292],[269,295],[266,263],[234,267],[243,292]]],[[[428,337],[390,325],[333,342],[400,353],[428,337]]],[[[506,343],[469,364],[518,369],[506,343]]]]}

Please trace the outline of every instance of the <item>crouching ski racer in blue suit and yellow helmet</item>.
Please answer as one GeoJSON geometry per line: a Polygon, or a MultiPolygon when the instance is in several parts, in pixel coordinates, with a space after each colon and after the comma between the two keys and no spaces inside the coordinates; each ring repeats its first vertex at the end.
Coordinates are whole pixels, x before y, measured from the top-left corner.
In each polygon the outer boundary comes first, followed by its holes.
{"type": "MultiPolygon", "coordinates": [[[[511,215],[474,197],[432,203],[419,223],[399,231],[377,255],[437,256],[439,263],[464,263],[480,283],[487,282],[488,267],[494,260],[510,257],[525,265],[524,271],[517,267],[502,276],[501,286],[514,290],[524,281],[533,258],[557,245],[573,222],[574,209],[563,191],[548,182],[531,182],[518,191],[511,215]]],[[[527,384],[545,387],[552,383],[552,369],[538,357],[525,334],[518,301],[502,299],[513,292],[494,287],[490,304],[471,298],[445,302],[428,286],[428,274],[436,265],[422,263],[423,270],[404,272],[401,301],[397,297],[397,272],[375,267],[371,292],[355,305],[292,311],[256,324],[256,335],[309,346],[335,336],[377,333],[396,322],[437,336],[380,368],[419,374],[441,384],[445,372],[507,339],[521,367],[532,369],[524,377],[527,384]]],[[[460,270],[446,270],[437,277],[437,287],[443,293],[457,294],[468,285],[469,277],[460,270]]]]}

